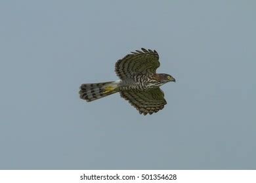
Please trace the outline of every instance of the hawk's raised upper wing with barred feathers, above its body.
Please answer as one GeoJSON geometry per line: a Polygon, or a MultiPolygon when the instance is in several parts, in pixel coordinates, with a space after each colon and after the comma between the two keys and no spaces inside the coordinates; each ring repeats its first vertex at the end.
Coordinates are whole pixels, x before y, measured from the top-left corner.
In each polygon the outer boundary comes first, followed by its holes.
{"type": "Polygon", "coordinates": [[[133,75],[156,73],[156,69],[160,66],[158,52],[144,48],[141,50],[131,52],[132,54],[116,62],[115,71],[121,80],[133,75]]]}

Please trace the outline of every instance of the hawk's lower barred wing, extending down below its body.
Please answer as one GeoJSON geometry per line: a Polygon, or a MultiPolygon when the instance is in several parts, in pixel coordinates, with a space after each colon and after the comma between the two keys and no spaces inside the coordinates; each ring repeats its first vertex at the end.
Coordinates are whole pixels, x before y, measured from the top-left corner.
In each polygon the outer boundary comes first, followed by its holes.
{"type": "Polygon", "coordinates": [[[121,97],[129,101],[133,107],[139,110],[140,114],[153,114],[163,109],[167,102],[164,99],[164,93],[160,88],[154,88],[146,91],[123,91],[121,97]]]}

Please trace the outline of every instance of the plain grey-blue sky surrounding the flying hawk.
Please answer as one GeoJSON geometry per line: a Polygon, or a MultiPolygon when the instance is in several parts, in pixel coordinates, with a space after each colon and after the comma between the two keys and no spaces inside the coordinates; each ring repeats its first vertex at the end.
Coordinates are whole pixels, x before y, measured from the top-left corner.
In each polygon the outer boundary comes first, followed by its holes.
{"type": "Polygon", "coordinates": [[[256,169],[255,1],[1,1],[0,169],[256,169]],[[167,105],[143,116],[117,80],[160,54],[167,105]]]}

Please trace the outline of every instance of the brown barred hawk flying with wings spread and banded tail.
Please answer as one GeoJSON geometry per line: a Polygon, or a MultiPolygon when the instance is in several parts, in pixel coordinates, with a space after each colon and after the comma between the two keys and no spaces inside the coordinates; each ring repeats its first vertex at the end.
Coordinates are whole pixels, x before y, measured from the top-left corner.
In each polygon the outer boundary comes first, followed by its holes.
{"type": "Polygon", "coordinates": [[[160,86],[175,82],[171,75],[157,74],[158,67],[158,52],[141,48],[116,62],[115,71],[120,80],[82,84],[80,98],[91,102],[119,92],[140,114],[153,114],[167,104],[160,86]]]}

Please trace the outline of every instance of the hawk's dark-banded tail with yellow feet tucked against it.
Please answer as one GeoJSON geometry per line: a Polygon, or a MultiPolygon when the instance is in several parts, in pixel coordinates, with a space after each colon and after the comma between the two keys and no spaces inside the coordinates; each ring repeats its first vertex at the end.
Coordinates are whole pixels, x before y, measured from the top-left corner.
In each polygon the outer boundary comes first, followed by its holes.
{"type": "Polygon", "coordinates": [[[95,101],[113,93],[119,92],[117,86],[119,81],[100,82],[93,84],[82,84],[80,87],[80,98],[87,102],[95,101]]]}

